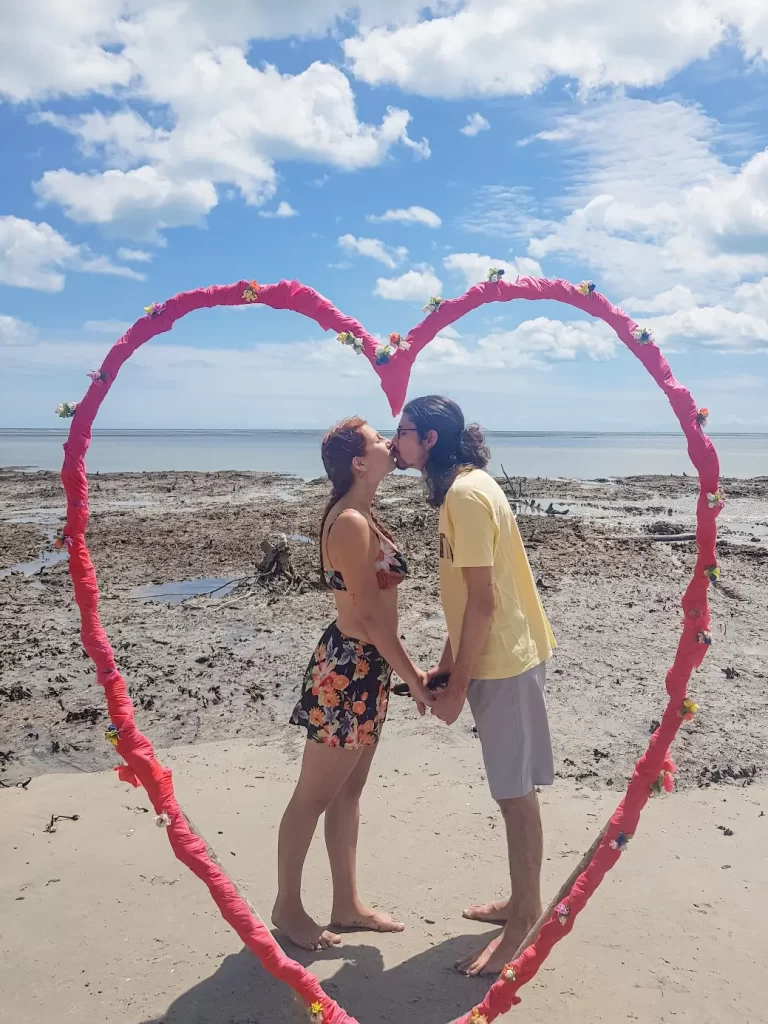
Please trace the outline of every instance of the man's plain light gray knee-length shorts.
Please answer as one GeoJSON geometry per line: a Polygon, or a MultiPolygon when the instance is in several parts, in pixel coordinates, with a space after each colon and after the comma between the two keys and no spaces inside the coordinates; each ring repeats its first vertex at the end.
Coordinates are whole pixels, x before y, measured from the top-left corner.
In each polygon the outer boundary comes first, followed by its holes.
{"type": "Polygon", "coordinates": [[[473,679],[469,684],[469,707],[494,800],[525,797],[535,786],[554,781],[546,686],[546,663],[510,679],[473,679]]]}

